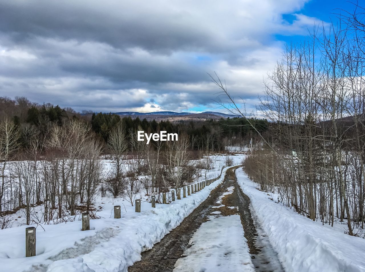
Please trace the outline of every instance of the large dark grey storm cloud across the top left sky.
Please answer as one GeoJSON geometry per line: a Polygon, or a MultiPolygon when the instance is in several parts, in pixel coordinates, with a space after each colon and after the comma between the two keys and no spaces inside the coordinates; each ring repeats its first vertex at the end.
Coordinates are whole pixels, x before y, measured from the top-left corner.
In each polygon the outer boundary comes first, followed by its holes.
{"type": "MultiPolygon", "coordinates": [[[[139,46],[169,53],[176,48],[220,47],[214,35],[187,24],[191,15],[166,14],[145,1],[3,1],[0,30],[17,42],[34,36],[98,41],[116,48],[139,46]],[[149,11],[143,10],[152,8],[149,11]],[[153,10],[155,9],[155,10],[153,10]],[[150,16],[152,14],[152,16],[150,16]],[[161,18],[158,18],[161,16],[161,18]],[[167,51],[166,51],[167,50],[167,51]]],[[[195,20],[195,18],[193,18],[195,20]]]]}

